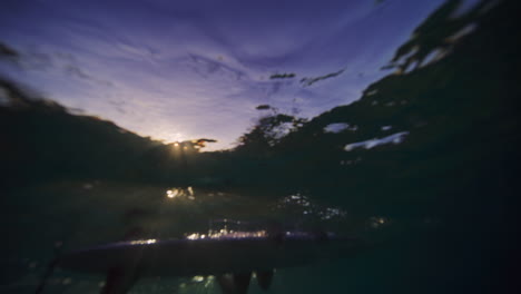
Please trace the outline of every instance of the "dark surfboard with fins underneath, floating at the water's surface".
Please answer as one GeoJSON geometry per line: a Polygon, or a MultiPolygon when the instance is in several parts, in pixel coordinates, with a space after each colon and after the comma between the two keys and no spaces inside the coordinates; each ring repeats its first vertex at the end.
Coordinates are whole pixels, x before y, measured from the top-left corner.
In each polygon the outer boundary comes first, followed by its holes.
{"type": "Polygon", "coordinates": [[[194,275],[217,276],[224,293],[246,293],[252,273],[267,290],[274,268],[341,257],[360,246],[357,238],[332,233],[193,234],[186,238],[125,241],[72,251],[61,255],[57,266],[106,274],[102,293],[126,293],[142,276],[194,275]]]}

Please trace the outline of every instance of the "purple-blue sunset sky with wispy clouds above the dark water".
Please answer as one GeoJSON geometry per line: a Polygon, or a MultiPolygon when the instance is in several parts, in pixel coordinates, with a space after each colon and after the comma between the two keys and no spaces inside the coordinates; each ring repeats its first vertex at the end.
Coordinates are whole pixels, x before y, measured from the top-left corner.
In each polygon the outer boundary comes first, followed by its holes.
{"type": "Polygon", "coordinates": [[[358,99],[442,2],[3,0],[0,42],[22,61],[0,72],[141,136],[230,148],[258,105],[312,118],[358,99]]]}

